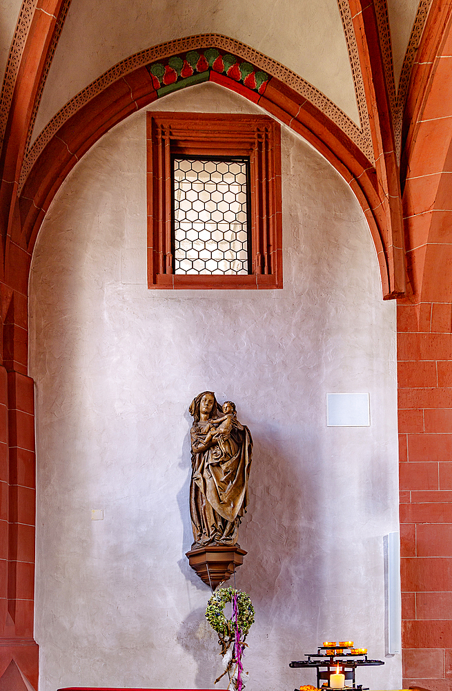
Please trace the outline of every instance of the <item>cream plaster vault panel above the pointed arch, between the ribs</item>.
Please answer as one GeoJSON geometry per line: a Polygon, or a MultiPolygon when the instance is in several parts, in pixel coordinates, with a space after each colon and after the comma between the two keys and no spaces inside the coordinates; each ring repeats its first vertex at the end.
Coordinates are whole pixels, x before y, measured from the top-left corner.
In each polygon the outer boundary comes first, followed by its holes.
{"type": "Polygon", "coordinates": [[[33,139],[120,60],[201,33],[224,34],[281,62],[360,123],[337,0],[72,0],[33,139]]]}

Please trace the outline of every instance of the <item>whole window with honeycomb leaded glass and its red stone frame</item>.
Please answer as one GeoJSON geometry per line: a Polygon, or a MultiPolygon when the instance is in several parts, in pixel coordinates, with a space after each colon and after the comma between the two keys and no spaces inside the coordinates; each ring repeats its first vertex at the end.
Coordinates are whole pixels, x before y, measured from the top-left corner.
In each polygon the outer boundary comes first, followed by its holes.
{"type": "Polygon", "coordinates": [[[146,120],[148,287],[282,288],[279,124],[242,113],[146,120]]]}

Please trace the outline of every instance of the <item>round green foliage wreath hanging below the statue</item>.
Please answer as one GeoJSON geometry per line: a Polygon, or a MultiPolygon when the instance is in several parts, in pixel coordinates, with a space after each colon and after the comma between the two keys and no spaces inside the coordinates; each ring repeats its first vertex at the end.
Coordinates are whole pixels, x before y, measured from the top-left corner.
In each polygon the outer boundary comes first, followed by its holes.
{"type": "Polygon", "coordinates": [[[242,631],[242,641],[244,641],[246,634],[254,623],[254,607],[251,604],[251,598],[246,593],[236,590],[235,588],[220,588],[215,590],[215,593],[210,598],[206,607],[206,619],[210,626],[220,636],[228,636],[235,638],[235,621],[226,619],[223,609],[226,603],[230,603],[233,595],[237,594],[237,608],[239,610],[238,626],[242,631]]]}

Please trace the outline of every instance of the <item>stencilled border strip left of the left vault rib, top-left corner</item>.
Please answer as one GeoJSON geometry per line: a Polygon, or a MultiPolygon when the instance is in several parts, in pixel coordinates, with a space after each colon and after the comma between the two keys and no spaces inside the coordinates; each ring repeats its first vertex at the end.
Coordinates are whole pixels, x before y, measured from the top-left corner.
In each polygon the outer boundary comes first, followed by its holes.
{"type": "Polygon", "coordinates": [[[17,19],[16,30],[8,55],[8,62],[6,63],[5,77],[3,79],[3,86],[1,87],[0,95],[0,145],[5,136],[6,122],[8,121],[8,113],[10,112],[12,93],[16,84],[17,73],[19,73],[19,65],[23,48],[25,46],[28,32],[33,19],[33,14],[37,6],[37,0],[23,0],[19,18],[17,19]]]}

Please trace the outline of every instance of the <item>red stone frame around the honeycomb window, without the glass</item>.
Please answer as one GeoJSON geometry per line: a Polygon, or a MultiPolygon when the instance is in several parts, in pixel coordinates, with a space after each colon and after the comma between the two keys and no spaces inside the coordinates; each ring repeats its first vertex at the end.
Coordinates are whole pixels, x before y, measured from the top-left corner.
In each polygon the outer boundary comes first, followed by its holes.
{"type": "Polygon", "coordinates": [[[282,288],[281,128],[266,115],[147,113],[148,287],[282,288]],[[252,273],[174,274],[171,156],[250,159],[252,273]]]}

